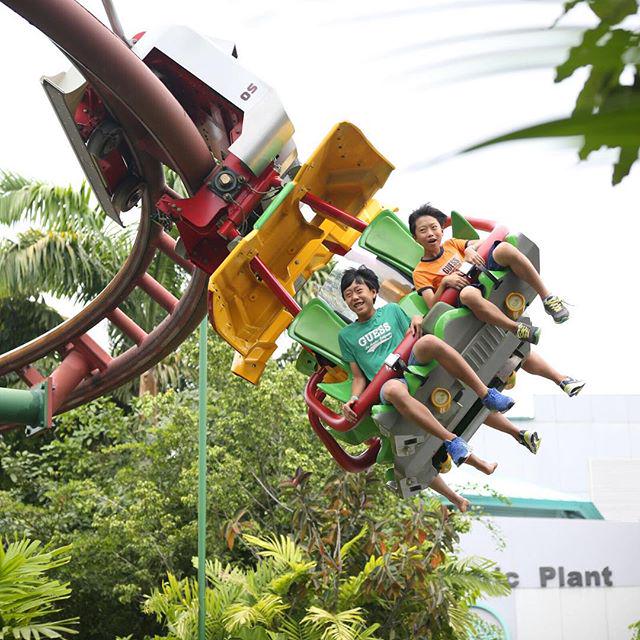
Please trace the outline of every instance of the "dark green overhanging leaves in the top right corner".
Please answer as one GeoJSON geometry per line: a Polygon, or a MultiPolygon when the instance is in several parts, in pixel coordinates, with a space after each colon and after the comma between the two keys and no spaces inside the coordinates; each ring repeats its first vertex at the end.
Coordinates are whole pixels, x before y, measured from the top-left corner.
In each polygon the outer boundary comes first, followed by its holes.
{"type": "Polygon", "coordinates": [[[556,68],[556,82],[587,70],[587,79],[570,117],[513,131],[466,151],[509,140],[582,137],[579,157],[585,160],[602,147],[618,149],[612,182],[618,184],[631,170],[640,151],[640,30],[621,26],[638,13],[637,0],[571,0],[565,13],[586,4],[599,23],[582,34],[567,59],[556,68]],[[624,79],[623,72],[631,76],[624,79]]]}

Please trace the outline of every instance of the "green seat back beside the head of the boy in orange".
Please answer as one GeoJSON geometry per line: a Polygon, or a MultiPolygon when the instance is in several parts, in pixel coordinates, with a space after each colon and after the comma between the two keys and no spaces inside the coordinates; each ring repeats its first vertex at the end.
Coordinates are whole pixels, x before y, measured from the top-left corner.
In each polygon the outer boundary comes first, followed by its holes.
{"type": "Polygon", "coordinates": [[[412,238],[404,222],[388,209],[369,223],[359,244],[409,278],[423,255],[422,247],[412,238]]]}

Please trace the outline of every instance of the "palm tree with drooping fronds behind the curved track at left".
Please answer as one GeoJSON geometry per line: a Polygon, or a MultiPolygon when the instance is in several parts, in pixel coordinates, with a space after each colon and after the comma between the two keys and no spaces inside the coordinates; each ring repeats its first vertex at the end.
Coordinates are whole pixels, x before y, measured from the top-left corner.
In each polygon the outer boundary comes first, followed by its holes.
{"type": "MultiPolygon", "coordinates": [[[[178,186],[175,178],[171,182],[178,186]]],[[[89,302],[109,283],[132,245],[131,227],[116,227],[94,204],[84,181],[75,190],[0,172],[0,225],[18,222],[37,226],[20,231],[15,240],[0,241],[0,307],[28,306],[29,314],[21,314],[20,318],[29,321],[19,334],[0,333],[2,352],[25,342],[25,335],[31,339],[60,322],[60,315],[42,301],[42,293],[77,303],[89,302]]],[[[180,296],[186,276],[164,254],[155,257],[148,272],[180,296]]],[[[159,305],[139,290],[132,292],[122,309],[145,331],[153,329],[164,317],[159,305]]],[[[114,329],[110,331],[115,354],[130,346],[128,338],[114,329]]],[[[155,388],[158,378],[175,384],[179,371],[175,363],[156,367],[143,374],[151,378],[146,386],[155,388]]]]}

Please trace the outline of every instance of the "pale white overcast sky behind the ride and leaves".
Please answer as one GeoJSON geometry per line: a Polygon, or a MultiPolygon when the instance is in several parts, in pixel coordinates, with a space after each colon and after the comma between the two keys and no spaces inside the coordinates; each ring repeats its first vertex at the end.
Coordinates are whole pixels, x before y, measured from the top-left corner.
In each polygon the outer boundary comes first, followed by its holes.
{"type": "MultiPolygon", "coordinates": [[[[103,19],[100,2],[84,4],[103,19]]],[[[555,326],[534,304],[532,319],[543,327],[540,353],[586,379],[589,393],[638,392],[637,168],[612,188],[610,153],[578,163],[575,145],[558,142],[502,145],[425,165],[570,112],[584,75],[556,85],[551,63],[575,39],[571,30],[469,38],[548,26],[560,3],[137,0],[117,6],[129,35],[177,22],[235,41],[242,63],[278,91],[302,159],[335,122],[349,120],[397,167],[379,193],[384,204],[408,215],[430,201],[526,233],[541,248],[552,291],[575,305],[571,320],[555,326]],[[528,70],[486,73],[512,67],[528,70]]],[[[587,20],[576,13],[562,24],[587,20]]],[[[82,172],[39,85],[41,75],[68,63],[4,6],[0,21],[0,167],[77,185],[82,172]]],[[[554,392],[551,383],[525,374],[519,386],[554,392]]]]}

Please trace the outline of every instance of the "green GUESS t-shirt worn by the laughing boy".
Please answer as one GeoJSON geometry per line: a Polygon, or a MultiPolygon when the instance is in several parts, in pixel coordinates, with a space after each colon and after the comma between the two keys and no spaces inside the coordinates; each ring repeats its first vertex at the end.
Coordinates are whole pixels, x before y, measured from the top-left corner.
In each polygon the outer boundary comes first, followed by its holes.
{"type": "Polygon", "coordinates": [[[411,321],[394,302],[376,309],[366,322],[352,322],[340,329],[338,342],[342,357],[355,362],[367,380],[384,364],[386,357],[400,344],[411,321]]]}

